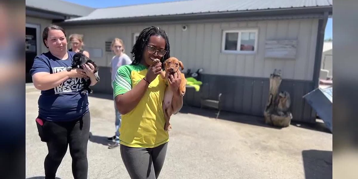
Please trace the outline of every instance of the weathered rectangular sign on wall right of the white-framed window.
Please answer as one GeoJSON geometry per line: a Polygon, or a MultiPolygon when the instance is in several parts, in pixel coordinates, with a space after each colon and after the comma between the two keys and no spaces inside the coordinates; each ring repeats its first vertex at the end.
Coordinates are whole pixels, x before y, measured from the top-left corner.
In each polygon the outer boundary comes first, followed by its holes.
{"type": "Polygon", "coordinates": [[[265,58],[295,59],[297,40],[266,40],[265,58]]]}

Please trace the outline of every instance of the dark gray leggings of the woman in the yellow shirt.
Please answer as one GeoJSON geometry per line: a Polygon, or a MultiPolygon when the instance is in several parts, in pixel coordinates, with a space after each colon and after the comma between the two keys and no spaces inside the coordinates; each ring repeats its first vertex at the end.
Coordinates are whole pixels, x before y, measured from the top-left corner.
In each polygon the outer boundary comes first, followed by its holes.
{"type": "Polygon", "coordinates": [[[131,179],[157,179],[164,164],[168,142],[155,148],[120,146],[124,165],[131,179]]]}

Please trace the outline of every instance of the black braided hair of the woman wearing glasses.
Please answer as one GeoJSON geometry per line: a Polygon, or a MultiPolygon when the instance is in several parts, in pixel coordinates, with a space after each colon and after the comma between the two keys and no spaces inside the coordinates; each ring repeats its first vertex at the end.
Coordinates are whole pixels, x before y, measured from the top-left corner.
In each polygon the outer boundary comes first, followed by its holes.
{"type": "MultiPolygon", "coordinates": [[[[132,62],[132,65],[137,65],[141,62],[143,58],[143,50],[145,46],[148,44],[149,38],[152,35],[159,35],[165,39],[165,49],[167,53],[163,56],[161,62],[163,63],[164,60],[168,59],[170,57],[170,47],[169,47],[169,38],[168,35],[165,33],[163,29],[160,29],[159,27],[151,26],[149,28],[145,28],[142,30],[142,32],[139,34],[138,39],[136,40],[131,54],[133,54],[134,60],[132,62]]],[[[163,66],[164,68],[164,66],[163,66]]]]}

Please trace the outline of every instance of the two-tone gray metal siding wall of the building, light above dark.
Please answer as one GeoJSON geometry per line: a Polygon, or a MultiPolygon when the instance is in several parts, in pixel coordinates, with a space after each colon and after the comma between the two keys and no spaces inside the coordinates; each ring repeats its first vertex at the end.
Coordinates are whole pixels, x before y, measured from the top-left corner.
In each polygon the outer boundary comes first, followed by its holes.
{"type": "MultiPolygon", "coordinates": [[[[318,19],[66,27],[68,34],[84,34],[86,47],[103,50],[102,58],[93,58],[101,66],[102,82],[93,87],[96,91],[98,88],[98,92],[112,93],[107,67],[113,53],[105,52],[105,41],[114,37],[123,39],[126,53],[131,56],[133,34],[149,25],[160,26],[166,31],[171,56],[179,58],[185,69],[195,71],[204,68],[202,81],[210,84],[208,95],[213,98],[222,92],[224,110],[262,116],[267,102],[268,77],[275,68],[279,68],[283,77],[281,89],[291,95],[293,120],[314,122],[315,112],[302,96],[313,89],[318,19]],[[188,29],[183,31],[182,25],[187,25],[188,29]],[[235,28],[258,28],[256,54],[221,52],[222,30],[235,28]],[[265,40],[271,39],[297,39],[296,59],[264,58],[265,40]]],[[[184,99],[189,105],[200,106],[200,93],[192,88],[188,88],[184,99]]]]}

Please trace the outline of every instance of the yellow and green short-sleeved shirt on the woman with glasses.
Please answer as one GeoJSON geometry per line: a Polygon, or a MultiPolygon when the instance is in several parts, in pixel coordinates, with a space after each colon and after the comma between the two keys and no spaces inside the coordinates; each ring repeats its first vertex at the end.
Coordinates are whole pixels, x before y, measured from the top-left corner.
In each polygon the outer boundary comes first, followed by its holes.
{"type": "MultiPolygon", "coordinates": [[[[124,65],[118,68],[113,80],[113,96],[124,94],[135,87],[146,75],[148,69],[142,65],[124,65]]],[[[157,147],[169,141],[164,130],[162,102],[166,84],[159,75],[149,84],[138,105],[122,115],[120,144],[129,147],[157,147]]]]}

